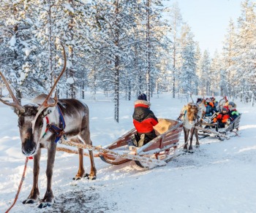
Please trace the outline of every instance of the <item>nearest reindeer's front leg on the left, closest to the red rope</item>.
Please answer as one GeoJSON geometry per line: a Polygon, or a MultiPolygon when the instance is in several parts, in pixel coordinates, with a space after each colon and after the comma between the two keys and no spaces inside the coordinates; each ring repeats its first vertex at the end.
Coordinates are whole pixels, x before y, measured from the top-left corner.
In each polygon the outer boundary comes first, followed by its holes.
{"type": "Polygon", "coordinates": [[[34,204],[35,202],[39,201],[39,190],[38,190],[38,175],[40,169],[40,157],[41,157],[41,148],[37,150],[37,154],[34,155],[34,168],[33,168],[33,187],[31,189],[31,193],[23,204],[34,204]]]}

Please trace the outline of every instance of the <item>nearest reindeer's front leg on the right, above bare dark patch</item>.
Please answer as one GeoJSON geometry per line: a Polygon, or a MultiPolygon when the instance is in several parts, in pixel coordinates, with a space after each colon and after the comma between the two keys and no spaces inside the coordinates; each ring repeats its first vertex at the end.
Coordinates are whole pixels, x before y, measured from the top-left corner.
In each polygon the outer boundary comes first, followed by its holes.
{"type": "Polygon", "coordinates": [[[47,187],[46,187],[45,197],[42,199],[41,204],[39,204],[38,206],[38,208],[40,209],[45,208],[47,206],[51,206],[55,202],[53,191],[51,189],[55,154],[56,154],[56,143],[50,142],[50,147],[48,147],[48,159],[47,159],[47,169],[46,169],[47,187]]]}

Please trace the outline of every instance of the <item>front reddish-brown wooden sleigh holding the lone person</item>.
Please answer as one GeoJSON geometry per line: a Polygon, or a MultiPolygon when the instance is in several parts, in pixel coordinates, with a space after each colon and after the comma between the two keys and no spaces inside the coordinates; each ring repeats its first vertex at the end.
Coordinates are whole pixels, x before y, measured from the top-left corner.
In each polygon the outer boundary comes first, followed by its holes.
{"type": "Polygon", "coordinates": [[[130,146],[135,128],[119,137],[115,142],[99,152],[99,158],[104,162],[113,165],[135,160],[135,163],[143,168],[154,166],[165,166],[168,161],[177,156],[176,149],[182,131],[182,123],[176,120],[159,119],[159,123],[154,127],[157,138],[151,140],[142,147],[130,146]]]}

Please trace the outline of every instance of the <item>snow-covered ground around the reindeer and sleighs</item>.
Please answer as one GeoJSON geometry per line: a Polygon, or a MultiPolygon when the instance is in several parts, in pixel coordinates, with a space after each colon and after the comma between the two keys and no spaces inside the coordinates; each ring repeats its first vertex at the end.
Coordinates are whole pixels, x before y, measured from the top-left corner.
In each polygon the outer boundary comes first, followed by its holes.
{"type": "MultiPolygon", "coordinates": [[[[88,96],[89,97],[89,96],[88,96]]],[[[90,109],[91,139],[106,145],[133,128],[133,101],[121,101],[120,122],[113,120],[110,97],[84,100],[90,109]]],[[[112,166],[95,158],[97,179],[73,181],[78,155],[57,152],[53,193],[57,203],[46,209],[23,205],[32,184],[32,161],[15,206],[10,212],[256,212],[256,110],[236,101],[243,113],[239,136],[223,142],[200,140],[193,154],[180,155],[167,166],[142,169],[134,162],[112,166]]],[[[23,101],[23,104],[26,104],[23,101]]],[[[157,117],[176,120],[185,100],[161,94],[151,99],[157,117]]],[[[0,212],[12,204],[23,172],[17,116],[0,103],[0,212]]],[[[184,139],[181,136],[181,144],[184,139]]],[[[86,158],[86,157],[85,157],[86,158]]],[[[42,151],[39,189],[46,189],[46,150],[42,151]]],[[[85,159],[87,171],[89,159],[85,159]]]]}

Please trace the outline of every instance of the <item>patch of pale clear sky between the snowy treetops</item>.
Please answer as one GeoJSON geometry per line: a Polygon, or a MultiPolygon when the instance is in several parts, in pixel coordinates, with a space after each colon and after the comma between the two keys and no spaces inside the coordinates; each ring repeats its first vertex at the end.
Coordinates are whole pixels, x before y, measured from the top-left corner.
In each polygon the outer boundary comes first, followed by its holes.
{"type": "Polygon", "coordinates": [[[200,50],[208,50],[211,56],[222,50],[230,18],[236,23],[241,15],[241,0],[178,0],[181,16],[192,29],[200,50]]]}

